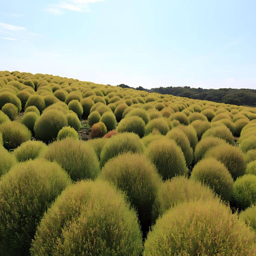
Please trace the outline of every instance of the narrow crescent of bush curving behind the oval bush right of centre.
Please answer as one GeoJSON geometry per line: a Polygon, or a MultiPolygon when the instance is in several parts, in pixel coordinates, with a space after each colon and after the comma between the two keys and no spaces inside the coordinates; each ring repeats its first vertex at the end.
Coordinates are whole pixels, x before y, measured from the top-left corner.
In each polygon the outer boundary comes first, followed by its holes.
{"type": "Polygon", "coordinates": [[[174,140],[177,145],[181,147],[186,160],[186,164],[187,166],[189,166],[189,164],[193,160],[193,149],[190,146],[186,134],[182,130],[180,130],[179,127],[176,127],[171,129],[171,131],[166,134],[166,137],[174,140]]]}

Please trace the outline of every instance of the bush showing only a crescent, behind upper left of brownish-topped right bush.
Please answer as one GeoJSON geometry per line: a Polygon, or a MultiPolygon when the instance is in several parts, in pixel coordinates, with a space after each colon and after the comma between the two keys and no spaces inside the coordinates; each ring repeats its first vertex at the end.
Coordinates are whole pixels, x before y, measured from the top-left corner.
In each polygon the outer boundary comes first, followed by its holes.
{"type": "Polygon", "coordinates": [[[195,162],[201,160],[205,156],[207,150],[219,145],[226,145],[226,141],[217,137],[206,137],[200,140],[195,146],[195,162]]]}

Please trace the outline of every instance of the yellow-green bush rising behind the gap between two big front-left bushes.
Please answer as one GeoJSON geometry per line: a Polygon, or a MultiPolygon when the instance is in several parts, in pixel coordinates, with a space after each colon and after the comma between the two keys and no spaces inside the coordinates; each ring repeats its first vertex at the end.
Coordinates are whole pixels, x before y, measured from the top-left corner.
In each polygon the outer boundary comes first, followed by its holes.
{"type": "Polygon", "coordinates": [[[58,140],[48,146],[43,157],[60,164],[73,181],[94,179],[99,173],[98,158],[84,141],[72,138],[58,140]]]}

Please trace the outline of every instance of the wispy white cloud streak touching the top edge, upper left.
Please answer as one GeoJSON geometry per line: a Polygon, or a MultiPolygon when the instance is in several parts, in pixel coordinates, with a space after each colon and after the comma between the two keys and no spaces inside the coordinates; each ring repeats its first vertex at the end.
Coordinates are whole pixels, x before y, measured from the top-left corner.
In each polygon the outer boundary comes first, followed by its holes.
{"type": "Polygon", "coordinates": [[[62,14],[63,10],[69,10],[74,12],[89,12],[90,3],[103,1],[104,0],[62,0],[58,4],[49,4],[46,11],[52,14],[62,14]]]}

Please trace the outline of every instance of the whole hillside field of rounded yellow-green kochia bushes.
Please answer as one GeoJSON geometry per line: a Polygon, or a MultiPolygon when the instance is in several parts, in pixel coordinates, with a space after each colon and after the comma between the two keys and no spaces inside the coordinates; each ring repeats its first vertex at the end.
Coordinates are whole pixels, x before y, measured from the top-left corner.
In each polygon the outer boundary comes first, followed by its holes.
{"type": "Polygon", "coordinates": [[[0,72],[0,255],[256,255],[256,108],[0,72]]]}

